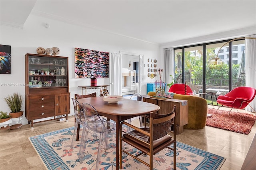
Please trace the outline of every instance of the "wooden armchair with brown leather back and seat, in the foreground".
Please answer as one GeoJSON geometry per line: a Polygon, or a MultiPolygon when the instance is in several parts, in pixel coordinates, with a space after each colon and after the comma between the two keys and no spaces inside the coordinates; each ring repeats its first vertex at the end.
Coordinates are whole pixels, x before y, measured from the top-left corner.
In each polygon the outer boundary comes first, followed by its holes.
{"type": "MultiPolygon", "coordinates": [[[[148,115],[146,115],[148,117],[148,115]]],[[[145,117],[145,119],[146,119],[145,117]]],[[[146,122],[146,121],[145,121],[146,122]]],[[[122,129],[123,125],[127,125],[128,127],[134,128],[134,130],[125,132],[124,130],[120,130],[120,140],[119,146],[122,146],[122,142],[126,142],[127,144],[133,146],[134,148],[142,151],[140,154],[134,155],[134,153],[138,152],[129,152],[124,147],[120,147],[119,149],[119,161],[120,161],[120,169],[122,169],[122,152],[131,156],[132,158],[142,162],[146,166],[153,170],[153,155],[160,152],[164,148],[168,148],[173,151],[173,166],[174,170],[176,170],[176,106],[174,105],[173,110],[167,114],[157,114],[150,112],[150,126],[146,127],[146,123],[144,127],[135,127],[129,123],[122,121],[120,123],[120,129],[122,129]],[[171,126],[173,125],[173,137],[168,133],[171,131],[171,126]],[[173,146],[170,146],[173,144],[173,146]],[[144,160],[138,158],[138,156],[142,154],[147,154],[150,157],[149,163],[144,160]]]]}

